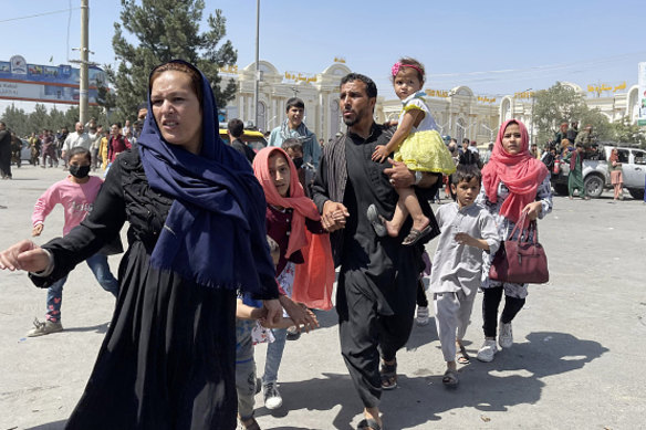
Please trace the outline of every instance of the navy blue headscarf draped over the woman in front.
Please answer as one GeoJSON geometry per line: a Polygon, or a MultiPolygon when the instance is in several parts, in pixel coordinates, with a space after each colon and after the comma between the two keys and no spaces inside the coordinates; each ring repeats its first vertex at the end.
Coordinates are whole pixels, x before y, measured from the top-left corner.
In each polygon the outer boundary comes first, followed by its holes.
{"type": "Polygon", "coordinates": [[[201,75],[202,146],[195,155],[164,140],[148,90],[148,115],[138,140],[142,164],[150,187],[175,199],[152,264],[201,285],[278,297],[262,187],[247,159],[220,139],[208,80],[194,65],[173,62],[201,75]]]}

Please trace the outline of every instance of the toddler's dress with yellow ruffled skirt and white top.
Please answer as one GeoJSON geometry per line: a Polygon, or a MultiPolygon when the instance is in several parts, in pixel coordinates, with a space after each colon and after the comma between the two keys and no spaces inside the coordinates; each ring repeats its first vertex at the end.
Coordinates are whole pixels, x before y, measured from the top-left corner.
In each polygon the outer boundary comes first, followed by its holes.
{"type": "Polygon", "coordinates": [[[421,97],[423,94],[419,92],[403,101],[404,107],[399,114],[399,124],[402,124],[404,114],[411,109],[423,111],[424,119],[399,145],[395,151],[395,160],[404,161],[406,167],[414,171],[450,175],[456,171],[456,164],[437,132],[437,125],[421,97]]]}

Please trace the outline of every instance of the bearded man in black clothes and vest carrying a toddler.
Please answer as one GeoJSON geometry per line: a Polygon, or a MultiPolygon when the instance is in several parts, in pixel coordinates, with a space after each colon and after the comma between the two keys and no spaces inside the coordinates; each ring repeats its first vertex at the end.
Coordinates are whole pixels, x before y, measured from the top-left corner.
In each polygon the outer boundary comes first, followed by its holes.
{"type": "MultiPolygon", "coordinates": [[[[397,387],[397,350],[406,345],[415,314],[417,281],[424,269],[425,239],[402,247],[413,222],[407,220],[398,238],[378,238],[365,217],[369,204],[392,217],[398,195],[394,187],[415,182],[418,200],[436,223],[428,200],[435,195],[439,174],[408,170],[404,162],[372,161],[377,145],[392,135],[373,119],[377,86],[369,77],[351,73],[341,80],[340,108],[347,134],[323,148],[312,195],[331,232],[335,264],[340,265],[336,312],[341,354],[364,405],[360,429],[382,428],[379,399],[383,389],[397,387]],[[433,176],[433,177],[431,177],[433,176]],[[431,185],[434,183],[434,185],[431,185]],[[382,361],[382,369],[379,369],[382,361]]],[[[395,426],[396,427],[396,426],[395,426]]]]}

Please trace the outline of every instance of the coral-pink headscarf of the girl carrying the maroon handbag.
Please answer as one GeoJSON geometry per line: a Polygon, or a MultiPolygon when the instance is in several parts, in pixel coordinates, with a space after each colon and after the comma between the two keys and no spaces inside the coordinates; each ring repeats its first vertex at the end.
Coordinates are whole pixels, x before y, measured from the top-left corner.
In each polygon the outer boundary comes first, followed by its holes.
{"type": "Polygon", "coordinates": [[[491,158],[482,168],[482,186],[491,202],[496,203],[498,200],[500,181],[509,189],[510,195],[500,207],[500,214],[514,223],[520,219],[523,208],[534,201],[539,185],[550,174],[543,162],[532,157],[529,141],[528,129],[523,123],[518,119],[504,122],[498,130],[491,158]],[[502,147],[502,136],[510,123],[518,124],[521,134],[521,148],[514,155],[502,147]]]}

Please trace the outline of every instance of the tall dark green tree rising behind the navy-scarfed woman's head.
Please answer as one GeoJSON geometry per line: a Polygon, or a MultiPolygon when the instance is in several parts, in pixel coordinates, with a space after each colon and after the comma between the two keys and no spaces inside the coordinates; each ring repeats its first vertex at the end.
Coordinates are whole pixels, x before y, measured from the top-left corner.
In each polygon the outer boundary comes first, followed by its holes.
{"type": "Polygon", "coordinates": [[[142,0],[140,6],[139,1],[122,0],[122,23],[115,22],[112,41],[118,65],[116,70],[105,67],[116,92],[116,112],[111,119],[132,118],[147,99],[153,67],[173,59],[191,62],[202,71],[218,106],[233,98],[233,80],[225,84],[218,74],[220,66],[235,64],[238,55],[230,41],[222,42],[226,18],[216,9],[208,15],[208,30],[200,33],[204,9],[204,0],[142,0]],[[124,30],[134,38],[126,39],[124,30]],[[138,44],[131,43],[133,39],[138,44]]]}

